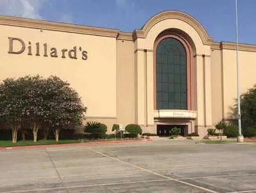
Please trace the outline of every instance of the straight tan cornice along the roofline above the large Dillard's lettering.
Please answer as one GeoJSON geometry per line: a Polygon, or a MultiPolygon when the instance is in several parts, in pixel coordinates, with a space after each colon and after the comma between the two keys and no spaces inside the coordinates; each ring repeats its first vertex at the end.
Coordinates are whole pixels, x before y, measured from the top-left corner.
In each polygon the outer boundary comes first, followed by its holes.
{"type": "Polygon", "coordinates": [[[119,33],[119,31],[116,29],[79,26],[74,24],[64,24],[60,22],[48,22],[43,20],[9,17],[4,15],[0,15],[0,25],[62,31],[67,33],[79,33],[84,35],[107,36],[112,38],[116,38],[119,33]]]}

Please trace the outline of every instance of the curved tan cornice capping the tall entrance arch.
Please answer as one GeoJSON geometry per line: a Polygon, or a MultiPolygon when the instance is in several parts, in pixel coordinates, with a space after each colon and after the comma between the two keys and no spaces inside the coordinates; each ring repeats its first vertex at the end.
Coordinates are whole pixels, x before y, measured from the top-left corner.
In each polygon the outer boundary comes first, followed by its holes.
{"type": "Polygon", "coordinates": [[[152,17],[150,20],[148,20],[147,24],[145,24],[145,26],[143,26],[141,30],[134,31],[134,39],[136,40],[136,38],[146,38],[148,32],[154,25],[166,19],[178,19],[186,22],[197,31],[197,33],[200,35],[200,38],[202,39],[202,42],[205,45],[212,44],[213,38],[210,38],[208,36],[207,32],[205,31],[204,27],[200,24],[200,22],[198,22],[195,18],[191,17],[186,13],[174,11],[162,12],[152,17]]]}

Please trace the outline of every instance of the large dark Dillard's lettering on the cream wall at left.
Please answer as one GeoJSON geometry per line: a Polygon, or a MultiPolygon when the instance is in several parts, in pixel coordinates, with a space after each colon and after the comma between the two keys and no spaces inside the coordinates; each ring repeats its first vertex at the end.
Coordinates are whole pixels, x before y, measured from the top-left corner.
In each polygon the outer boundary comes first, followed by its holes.
{"type": "Polygon", "coordinates": [[[88,59],[88,53],[82,49],[82,47],[73,47],[72,49],[61,49],[58,50],[55,47],[48,47],[47,43],[41,45],[39,42],[36,42],[33,45],[30,41],[26,45],[24,40],[20,38],[12,38],[9,39],[9,51],[8,54],[22,54],[26,53],[28,56],[44,56],[44,57],[52,57],[52,58],[70,58],[70,59],[88,59]],[[20,44],[20,46],[15,47],[13,45],[20,44]]]}

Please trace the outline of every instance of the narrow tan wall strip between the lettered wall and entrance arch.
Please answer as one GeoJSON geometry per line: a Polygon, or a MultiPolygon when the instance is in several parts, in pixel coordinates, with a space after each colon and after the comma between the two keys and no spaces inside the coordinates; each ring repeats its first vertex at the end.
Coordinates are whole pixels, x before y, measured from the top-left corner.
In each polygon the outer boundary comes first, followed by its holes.
{"type": "Polygon", "coordinates": [[[117,40],[117,123],[135,123],[134,43],[117,40]]]}

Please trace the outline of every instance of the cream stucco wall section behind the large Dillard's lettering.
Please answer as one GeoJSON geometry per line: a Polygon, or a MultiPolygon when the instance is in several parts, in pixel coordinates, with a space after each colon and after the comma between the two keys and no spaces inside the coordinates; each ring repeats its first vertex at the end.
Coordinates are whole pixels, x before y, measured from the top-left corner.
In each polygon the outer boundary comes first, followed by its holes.
{"type": "MultiPolygon", "coordinates": [[[[0,79],[21,77],[24,75],[57,75],[70,82],[88,107],[89,118],[116,118],[116,38],[60,31],[29,29],[25,27],[0,26],[0,79]],[[28,45],[31,42],[33,56],[28,56],[28,49],[22,54],[8,54],[8,37],[21,38],[28,45]],[[61,49],[81,47],[88,52],[88,59],[68,57],[35,56],[35,43],[61,49]]],[[[19,50],[16,42],[15,48],[19,50]]],[[[48,48],[48,49],[49,49],[48,48]]]]}

